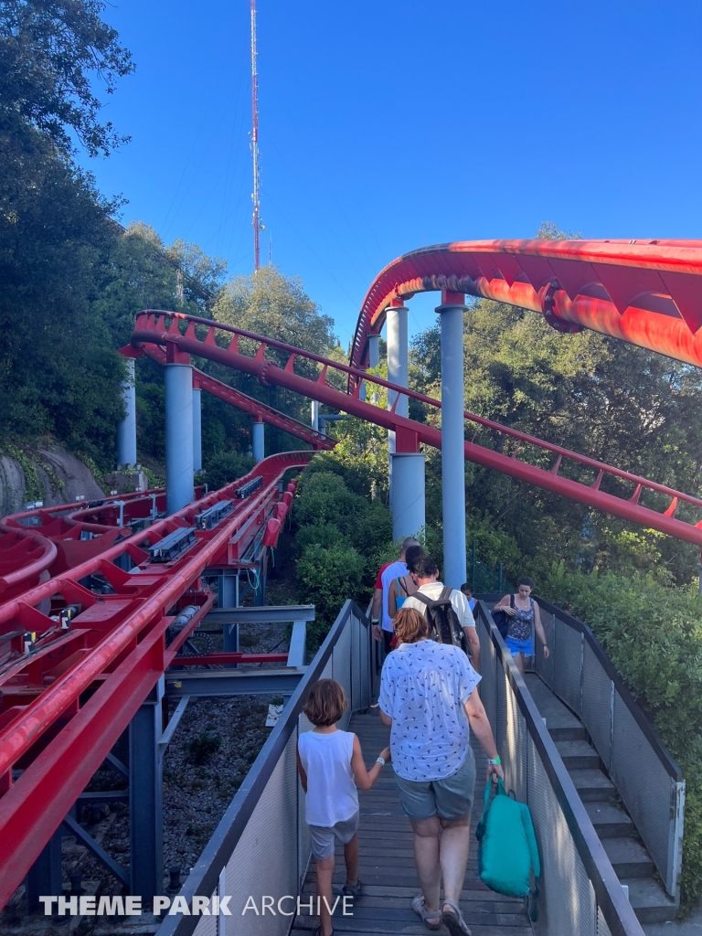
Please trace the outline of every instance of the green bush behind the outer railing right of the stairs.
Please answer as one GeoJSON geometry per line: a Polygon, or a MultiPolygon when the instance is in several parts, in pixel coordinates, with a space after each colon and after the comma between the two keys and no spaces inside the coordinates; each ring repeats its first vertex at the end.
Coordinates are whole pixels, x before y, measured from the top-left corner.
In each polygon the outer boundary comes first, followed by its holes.
{"type": "Polygon", "coordinates": [[[555,564],[538,592],[592,627],[686,781],[682,906],[702,895],[702,597],[653,576],[555,564]]]}

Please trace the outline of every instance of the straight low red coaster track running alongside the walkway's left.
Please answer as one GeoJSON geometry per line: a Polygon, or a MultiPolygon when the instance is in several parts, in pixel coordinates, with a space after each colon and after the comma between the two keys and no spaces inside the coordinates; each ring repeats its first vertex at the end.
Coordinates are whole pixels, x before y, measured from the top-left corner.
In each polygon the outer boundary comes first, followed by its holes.
{"type": "Polygon", "coordinates": [[[0,906],[3,906],[119,739],[139,705],[209,607],[200,577],[208,567],[238,558],[278,500],[278,482],[313,452],[288,452],[259,462],[244,478],[213,491],[168,519],[124,539],[89,562],[0,606],[0,635],[15,642],[14,659],[0,667],[0,906]],[[147,545],[261,476],[262,486],[235,501],[234,513],[168,563],[146,563],[147,545]],[[128,557],[139,573],[117,564],[128,557]],[[80,584],[102,577],[110,593],[80,584]],[[69,629],[39,607],[80,607],[69,629]],[[186,606],[197,607],[167,645],[168,626],[186,606]],[[25,632],[35,652],[20,653],[25,632]],[[85,700],[83,695],[92,695],[85,700]],[[19,777],[13,768],[21,768],[19,777]]]}

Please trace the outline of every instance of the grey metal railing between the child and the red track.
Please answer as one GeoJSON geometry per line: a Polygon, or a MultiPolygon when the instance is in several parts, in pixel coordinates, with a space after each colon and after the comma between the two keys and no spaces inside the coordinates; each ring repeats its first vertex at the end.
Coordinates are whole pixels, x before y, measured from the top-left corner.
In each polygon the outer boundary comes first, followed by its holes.
{"type": "Polygon", "coordinates": [[[347,727],[354,711],[367,709],[371,643],[368,618],[346,601],[181,890],[188,905],[196,896],[229,896],[230,915],[166,916],[158,936],[285,936],[310,860],[296,753],[300,733],[312,725],[302,707],[316,680],[334,679],[350,704],[340,727],[347,727]],[[283,901],[281,912],[278,901],[287,896],[292,899],[283,901]],[[242,914],[250,897],[258,914],[242,914]],[[275,915],[260,915],[263,897],[274,899],[275,915]]]}

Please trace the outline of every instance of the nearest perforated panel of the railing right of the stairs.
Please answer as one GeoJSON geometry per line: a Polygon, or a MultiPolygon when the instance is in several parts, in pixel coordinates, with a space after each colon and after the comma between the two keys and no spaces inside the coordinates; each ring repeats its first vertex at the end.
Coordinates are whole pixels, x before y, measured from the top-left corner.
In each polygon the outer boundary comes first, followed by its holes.
{"type": "Polygon", "coordinates": [[[670,808],[674,782],[618,692],[614,694],[613,739],[612,782],[665,881],[674,818],[670,808]],[[660,805],[652,809],[653,803],[660,805]]]}

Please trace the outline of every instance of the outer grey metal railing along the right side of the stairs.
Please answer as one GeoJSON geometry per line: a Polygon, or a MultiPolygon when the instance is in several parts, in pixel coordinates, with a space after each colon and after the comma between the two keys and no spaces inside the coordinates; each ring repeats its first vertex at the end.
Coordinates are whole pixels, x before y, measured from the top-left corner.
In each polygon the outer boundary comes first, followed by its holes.
{"type": "Polygon", "coordinates": [[[538,604],[550,656],[544,660],[535,640],[535,671],[587,728],[665,890],[679,901],[682,771],[588,625],[542,598],[538,604]]]}

